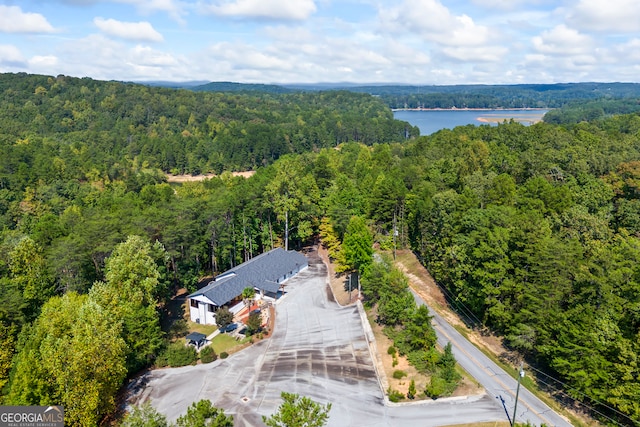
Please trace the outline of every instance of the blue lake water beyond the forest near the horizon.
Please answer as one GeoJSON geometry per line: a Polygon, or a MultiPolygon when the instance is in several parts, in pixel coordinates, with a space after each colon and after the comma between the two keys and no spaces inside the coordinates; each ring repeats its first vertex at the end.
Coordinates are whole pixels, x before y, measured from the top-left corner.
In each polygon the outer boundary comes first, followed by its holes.
{"type": "Polygon", "coordinates": [[[393,116],[413,126],[418,126],[420,135],[431,135],[440,129],[453,129],[464,125],[497,125],[514,119],[525,125],[542,120],[549,110],[398,110],[393,116]]]}

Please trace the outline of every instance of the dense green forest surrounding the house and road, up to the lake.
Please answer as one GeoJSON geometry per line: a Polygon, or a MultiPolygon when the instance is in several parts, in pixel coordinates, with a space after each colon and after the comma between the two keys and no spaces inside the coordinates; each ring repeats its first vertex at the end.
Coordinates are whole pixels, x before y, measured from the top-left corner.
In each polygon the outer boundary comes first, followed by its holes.
{"type": "Polygon", "coordinates": [[[165,345],[175,286],[284,245],[285,218],[300,247],[355,217],[566,393],[640,425],[639,115],[418,137],[366,94],[27,75],[0,102],[3,404],[96,424],[165,345]]]}

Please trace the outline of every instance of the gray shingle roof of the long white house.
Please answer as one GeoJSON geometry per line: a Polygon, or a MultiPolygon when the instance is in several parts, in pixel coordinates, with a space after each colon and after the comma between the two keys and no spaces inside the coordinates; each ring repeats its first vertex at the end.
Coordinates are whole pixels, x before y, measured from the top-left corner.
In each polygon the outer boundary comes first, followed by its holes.
{"type": "Polygon", "coordinates": [[[276,282],[278,279],[307,265],[304,255],[275,248],[224,272],[189,298],[204,295],[220,307],[242,294],[247,287],[276,293],[280,289],[280,283],[276,282]]]}

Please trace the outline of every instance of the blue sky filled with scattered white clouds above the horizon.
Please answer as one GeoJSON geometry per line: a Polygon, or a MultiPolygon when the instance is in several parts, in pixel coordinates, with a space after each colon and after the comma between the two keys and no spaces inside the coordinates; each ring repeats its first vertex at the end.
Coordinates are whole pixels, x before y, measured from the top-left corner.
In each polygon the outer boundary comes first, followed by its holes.
{"type": "Polygon", "coordinates": [[[0,72],[244,83],[637,82],[637,0],[0,0],[0,72]]]}

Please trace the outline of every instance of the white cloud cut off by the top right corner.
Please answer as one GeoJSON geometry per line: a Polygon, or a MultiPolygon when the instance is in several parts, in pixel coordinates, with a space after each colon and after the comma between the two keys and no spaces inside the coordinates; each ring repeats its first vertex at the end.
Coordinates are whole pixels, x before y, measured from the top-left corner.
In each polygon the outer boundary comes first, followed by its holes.
{"type": "Polygon", "coordinates": [[[633,33],[640,31],[637,0],[580,0],[567,22],[585,31],[633,33]]]}

